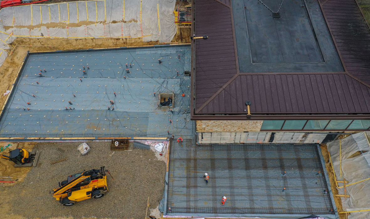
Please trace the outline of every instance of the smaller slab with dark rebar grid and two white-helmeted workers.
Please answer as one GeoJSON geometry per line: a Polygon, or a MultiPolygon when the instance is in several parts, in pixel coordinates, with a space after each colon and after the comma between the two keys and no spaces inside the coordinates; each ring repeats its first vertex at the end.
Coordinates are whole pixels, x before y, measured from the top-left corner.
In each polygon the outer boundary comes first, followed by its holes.
{"type": "Polygon", "coordinates": [[[333,208],[317,145],[173,142],[168,183],[171,213],[318,215],[333,208]]]}

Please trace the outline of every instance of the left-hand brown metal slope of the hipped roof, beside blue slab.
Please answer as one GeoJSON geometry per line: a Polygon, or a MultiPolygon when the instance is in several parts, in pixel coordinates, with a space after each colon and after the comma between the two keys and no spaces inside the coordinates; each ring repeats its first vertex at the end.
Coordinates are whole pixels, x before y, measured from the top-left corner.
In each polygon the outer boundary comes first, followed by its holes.
{"type": "Polygon", "coordinates": [[[236,74],[237,65],[230,7],[215,0],[195,4],[195,37],[208,35],[206,40],[195,40],[198,108],[236,74]]]}

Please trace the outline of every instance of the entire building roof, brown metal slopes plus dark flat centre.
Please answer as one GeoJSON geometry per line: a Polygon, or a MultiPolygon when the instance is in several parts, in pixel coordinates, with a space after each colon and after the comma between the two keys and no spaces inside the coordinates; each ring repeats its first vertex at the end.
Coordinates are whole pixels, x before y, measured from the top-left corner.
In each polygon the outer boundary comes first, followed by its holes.
{"type": "Polygon", "coordinates": [[[280,18],[258,0],[229,3],[194,0],[193,34],[208,38],[192,42],[192,119],[247,119],[247,100],[250,119],[370,118],[370,32],[355,0],[283,2],[280,18]]]}

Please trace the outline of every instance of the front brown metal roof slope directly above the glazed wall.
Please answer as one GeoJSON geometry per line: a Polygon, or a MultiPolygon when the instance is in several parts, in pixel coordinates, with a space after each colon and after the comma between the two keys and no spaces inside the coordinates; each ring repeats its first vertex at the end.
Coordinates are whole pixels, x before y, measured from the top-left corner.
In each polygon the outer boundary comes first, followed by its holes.
{"type": "Polygon", "coordinates": [[[252,113],[367,113],[370,88],[346,73],[240,73],[199,110],[245,113],[246,100],[252,113]]]}

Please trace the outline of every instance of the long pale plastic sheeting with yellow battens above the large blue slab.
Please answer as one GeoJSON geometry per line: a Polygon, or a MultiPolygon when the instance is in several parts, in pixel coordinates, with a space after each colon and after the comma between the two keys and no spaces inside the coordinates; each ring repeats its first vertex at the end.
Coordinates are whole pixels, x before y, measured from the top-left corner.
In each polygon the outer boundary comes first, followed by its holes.
{"type": "MultiPolygon", "coordinates": [[[[175,0],[97,0],[29,4],[0,10],[0,49],[16,37],[142,38],[170,42],[175,0]]],[[[0,54],[0,65],[7,56],[0,54]]]]}

